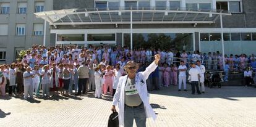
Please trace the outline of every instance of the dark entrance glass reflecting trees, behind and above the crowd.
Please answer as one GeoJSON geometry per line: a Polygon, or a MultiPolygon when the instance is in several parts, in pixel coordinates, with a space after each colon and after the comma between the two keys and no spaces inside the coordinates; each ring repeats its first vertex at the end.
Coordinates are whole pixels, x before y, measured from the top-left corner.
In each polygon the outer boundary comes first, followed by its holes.
{"type": "MultiPolygon", "coordinates": [[[[192,33],[134,33],[133,48],[179,49],[192,51],[192,33]]],[[[124,33],[124,46],[130,47],[130,34],[124,33]]]]}

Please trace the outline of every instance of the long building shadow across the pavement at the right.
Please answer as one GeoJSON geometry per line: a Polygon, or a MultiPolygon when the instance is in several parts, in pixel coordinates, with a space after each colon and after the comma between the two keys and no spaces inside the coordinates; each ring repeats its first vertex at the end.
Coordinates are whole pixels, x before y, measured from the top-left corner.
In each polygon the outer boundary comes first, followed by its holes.
{"type": "MultiPolygon", "coordinates": [[[[183,87],[183,86],[182,86],[183,87]]],[[[178,86],[169,86],[169,88],[161,88],[160,91],[151,91],[150,94],[159,94],[164,96],[176,96],[186,98],[221,98],[227,100],[239,100],[234,97],[256,97],[256,89],[254,87],[243,86],[223,86],[222,88],[205,87],[205,94],[191,94],[191,87],[187,85],[188,91],[177,91],[178,86]]]]}

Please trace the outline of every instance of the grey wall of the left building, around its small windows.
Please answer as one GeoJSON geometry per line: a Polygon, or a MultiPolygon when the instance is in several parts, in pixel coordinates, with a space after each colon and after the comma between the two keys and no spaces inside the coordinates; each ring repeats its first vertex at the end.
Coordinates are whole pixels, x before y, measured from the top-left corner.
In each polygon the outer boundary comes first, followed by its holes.
{"type": "MultiPolygon", "coordinates": [[[[33,35],[33,24],[44,23],[41,18],[36,18],[34,13],[35,2],[44,0],[0,0],[10,3],[9,14],[0,14],[0,24],[8,24],[8,35],[0,36],[0,47],[6,48],[6,63],[11,63],[15,58],[15,49],[28,49],[33,44],[43,45],[43,36],[33,35]],[[27,2],[27,14],[17,14],[18,2],[27,2]],[[25,24],[25,36],[17,36],[16,24],[25,24]]],[[[53,0],[45,0],[45,10],[52,10],[53,0]]],[[[46,45],[49,45],[49,25],[46,26],[46,45]]]]}

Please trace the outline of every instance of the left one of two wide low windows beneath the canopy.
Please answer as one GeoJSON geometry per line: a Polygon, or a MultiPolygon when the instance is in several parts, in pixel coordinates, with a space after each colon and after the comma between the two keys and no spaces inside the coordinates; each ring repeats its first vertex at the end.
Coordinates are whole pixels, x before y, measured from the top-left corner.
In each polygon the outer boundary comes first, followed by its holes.
{"type": "Polygon", "coordinates": [[[57,35],[57,41],[85,41],[85,35],[84,34],[57,35]]]}

